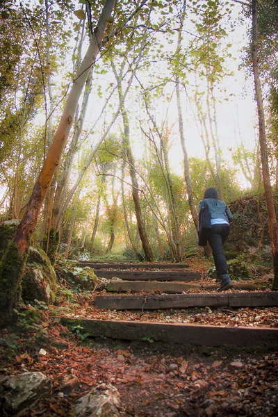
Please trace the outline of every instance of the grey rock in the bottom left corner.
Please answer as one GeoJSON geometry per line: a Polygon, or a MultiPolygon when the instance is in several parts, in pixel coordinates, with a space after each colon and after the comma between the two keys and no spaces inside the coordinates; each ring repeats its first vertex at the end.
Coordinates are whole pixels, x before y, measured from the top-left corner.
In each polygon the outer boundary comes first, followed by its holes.
{"type": "Polygon", "coordinates": [[[51,379],[40,372],[0,377],[0,411],[14,416],[48,398],[51,391],[51,379]]]}

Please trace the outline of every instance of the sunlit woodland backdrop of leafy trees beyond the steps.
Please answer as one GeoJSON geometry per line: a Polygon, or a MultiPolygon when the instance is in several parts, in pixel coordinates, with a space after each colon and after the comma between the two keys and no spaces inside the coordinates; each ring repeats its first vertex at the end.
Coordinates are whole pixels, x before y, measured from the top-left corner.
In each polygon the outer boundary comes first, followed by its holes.
{"type": "MultiPolygon", "coordinates": [[[[54,168],[28,232],[50,257],[52,236],[54,252],[60,245],[65,257],[85,251],[181,261],[197,245],[206,187],[228,204],[263,193],[254,1],[108,3],[1,2],[1,221],[22,221],[52,152],[54,168]]],[[[277,2],[261,1],[258,17],[270,183],[277,188],[277,2]]]]}

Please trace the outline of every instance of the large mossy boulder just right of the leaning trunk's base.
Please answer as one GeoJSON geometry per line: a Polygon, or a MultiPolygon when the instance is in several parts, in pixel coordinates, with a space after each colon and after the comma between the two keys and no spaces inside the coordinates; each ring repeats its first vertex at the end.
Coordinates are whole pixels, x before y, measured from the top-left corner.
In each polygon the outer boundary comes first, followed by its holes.
{"type": "Polygon", "coordinates": [[[47,254],[40,247],[30,247],[22,279],[22,299],[52,304],[56,298],[57,277],[47,254]]]}

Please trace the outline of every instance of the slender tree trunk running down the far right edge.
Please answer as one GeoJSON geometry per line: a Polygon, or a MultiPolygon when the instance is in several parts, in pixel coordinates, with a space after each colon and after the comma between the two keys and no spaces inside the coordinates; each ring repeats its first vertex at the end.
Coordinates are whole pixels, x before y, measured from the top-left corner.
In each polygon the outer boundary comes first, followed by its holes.
{"type": "Polygon", "coordinates": [[[273,272],[274,280],[272,284],[273,290],[278,290],[278,232],[277,232],[277,217],[275,213],[275,204],[272,195],[272,188],[270,183],[270,172],[268,165],[268,147],[265,136],[265,115],[263,109],[263,95],[261,89],[261,80],[259,72],[258,59],[258,0],[252,0],[252,63],[254,74],[254,85],[256,104],[259,119],[259,143],[261,148],[261,165],[263,172],[263,187],[265,189],[265,203],[268,211],[268,229],[270,232],[273,272]]]}

